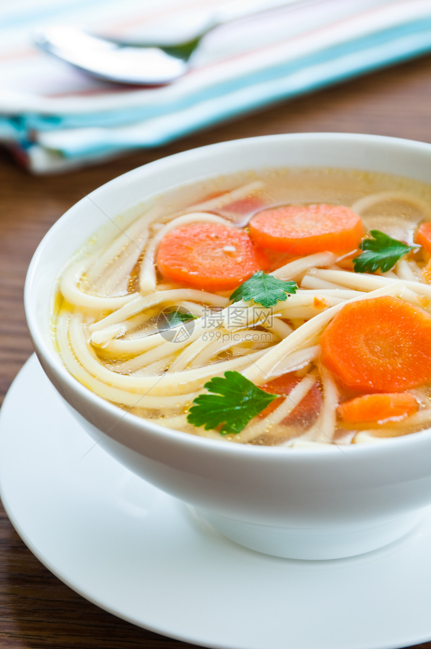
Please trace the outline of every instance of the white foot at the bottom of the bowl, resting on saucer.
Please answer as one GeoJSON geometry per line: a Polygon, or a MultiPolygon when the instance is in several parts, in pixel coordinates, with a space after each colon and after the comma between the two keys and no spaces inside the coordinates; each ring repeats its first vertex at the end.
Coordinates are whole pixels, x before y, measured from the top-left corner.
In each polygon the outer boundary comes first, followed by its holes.
{"type": "Polygon", "coordinates": [[[362,525],[315,528],[275,527],[227,519],[197,510],[199,516],[223,536],[251,550],[285,559],[342,559],[382,548],[413,529],[426,509],[395,519],[362,525]]]}

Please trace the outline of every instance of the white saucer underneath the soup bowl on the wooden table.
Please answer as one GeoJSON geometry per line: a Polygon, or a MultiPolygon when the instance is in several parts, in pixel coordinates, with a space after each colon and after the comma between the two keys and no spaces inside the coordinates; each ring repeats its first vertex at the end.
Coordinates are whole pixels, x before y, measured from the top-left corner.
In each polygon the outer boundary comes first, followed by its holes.
{"type": "Polygon", "coordinates": [[[1,410],[0,495],[38,559],[106,611],[228,649],[431,638],[431,517],[360,557],[278,559],[227,541],[92,445],[32,357],[1,410]]]}

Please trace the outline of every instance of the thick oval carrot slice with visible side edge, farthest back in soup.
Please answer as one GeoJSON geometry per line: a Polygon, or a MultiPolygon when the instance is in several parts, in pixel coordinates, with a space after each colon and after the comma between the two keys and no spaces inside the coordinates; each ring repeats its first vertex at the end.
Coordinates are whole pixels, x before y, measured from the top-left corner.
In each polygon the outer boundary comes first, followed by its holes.
{"type": "Polygon", "coordinates": [[[342,205],[285,205],[263,210],[249,224],[251,238],[262,248],[295,255],[349,252],[363,238],[360,217],[342,205]]]}

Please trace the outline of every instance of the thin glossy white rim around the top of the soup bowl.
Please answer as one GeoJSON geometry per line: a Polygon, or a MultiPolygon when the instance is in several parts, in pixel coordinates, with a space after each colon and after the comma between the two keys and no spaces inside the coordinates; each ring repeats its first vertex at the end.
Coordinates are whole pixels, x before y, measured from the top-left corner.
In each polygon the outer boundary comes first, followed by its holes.
{"type": "MultiPolygon", "coordinates": [[[[133,183],[136,179],[141,178],[142,175],[145,175],[145,171],[150,169],[151,171],[168,171],[169,167],[176,167],[177,164],[191,162],[193,160],[199,159],[201,156],[206,154],[208,151],[217,151],[225,149],[228,154],[229,149],[238,146],[238,143],[241,145],[265,145],[265,143],[271,143],[273,141],[295,141],[295,140],[315,140],[315,141],[350,141],[353,145],[355,143],[373,143],[383,145],[388,148],[388,152],[392,148],[399,150],[400,148],[406,149],[406,151],[425,151],[430,154],[431,157],[431,144],[425,143],[416,140],[408,140],[404,138],[394,138],[389,136],[373,135],[373,134],[358,134],[358,133],[339,133],[339,132],[304,132],[304,133],[287,133],[287,134],[273,134],[269,136],[258,136],[252,138],[240,138],[238,140],[228,140],[223,142],[217,142],[210,145],[205,145],[203,147],[197,147],[195,149],[189,149],[188,151],[180,151],[170,156],[165,156],[163,158],[158,158],[147,164],[140,165],[135,169],[131,169],[126,173],[123,173],[112,180],[109,180],[105,184],[99,186],[88,195],[80,199],[80,201],[73,204],[64,214],[62,214],[57,221],[53,224],[51,228],[47,231],[45,236],[43,236],[42,241],[40,241],[36,251],[34,252],[27,275],[25,278],[24,286],[24,307],[25,307],[25,317],[27,320],[27,326],[32,337],[33,345],[36,349],[36,354],[42,356],[43,361],[49,365],[51,371],[57,374],[59,378],[68,386],[68,389],[77,394],[80,400],[88,402],[91,406],[95,408],[101,408],[106,411],[108,415],[116,416],[117,421],[112,424],[109,430],[112,430],[116,426],[117,422],[125,419],[126,422],[129,422],[135,428],[138,428],[140,432],[145,434],[151,433],[153,435],[162,436],[166,441],[175,442],[177,445],[188,445],[195,448],[207,448],[214,451],[217,454],[228,454],[228,455],[237,455],[241,454],[244,457],[262,457],[262,458],[282,458],[284,462],[288,461],[289,458],[293,461],[316,461],[318,458],[329,458],[336,457],[338,454],[340,457],[344,456],[380,456],[388,454],[389,448],[397,449],[399,448],[400,452],[404,452],[405,447],[415,446],[421,444],[423,439],[431,440],[431,428],[416,432],[414,434],[400,435],[399,437],[385,438],[384,443],[369,443],[369,444],[352,444],[352,445],[337,445],[331,444],[328,447],[318,447],[318,448],[290,448],[290,447],[265,447],[265,446],[254,446],[254,445],[244,445],[241,443],[220,443],[223,439],[209,439],[208,437],[202,437],[200,435],[192,435],[190,433],[182,432],[179,430],[174,430],[172,428],[167,428],[162,424],[157,424],[151,420],[138,417],[138,415],[133,415],[130,412],[124,411],[116,404],[105,400],[103,397],[99,397],[93,393],[88,387],[84,386],[77,380],[62,364],[61,358],[55,357],[55,350],[49,349],[45,338],[42,335],[42,332],[38,326],[38,319],[36,313],[34,313],[34,308],[32,306],[32,288],[34,282],[36,282],[36,276],[40,266],[43,264],[43,255],[45,247],[55,239],[64,228],[64,225],[68,219],[73,217],[73,214],[77,210],[80,210],[84,203],[86,202],[87,197],[90,197],[97,201],[99,195],[103,195],[106,191],[112,190],[121,190],[124,189],[125,184],[133,183]],[[54,351],[54,354],[52,353],[54,351]],[[340,453],[341,450],[341,453],[340,453]]],[[[253,167],[250,167],[253,168],[253,167]]],[[[254,167],[256,168],[256,167],[254,167]]],[[[244,169],[247,171],[247,169],[244,169]]],[[[208,176],[209,177],[209,176],[208,176]]],[[[406,176],[408,177],[408,176],[406,176]]],[[[192,182],[192,181],[190,181],[192,182]]],[[[183,183],[184,184],[184,183],[183,183]]],[[[172,187],[175,185],[172,185],[172,187]]],[[[169,185],[165,191],[169,190],[169,185]]],[[[151,194],[147,195],[149,197],[151,194]]],[[[145,200],[145,197],[143,197],[145,200]]],[[[132,207],[132,205],[130,205],[132,207]]],[[[85,240],[82,241],[85,243],[85,240]]],[[[105,432],[107,435],[109,433],[105,432]]]]}

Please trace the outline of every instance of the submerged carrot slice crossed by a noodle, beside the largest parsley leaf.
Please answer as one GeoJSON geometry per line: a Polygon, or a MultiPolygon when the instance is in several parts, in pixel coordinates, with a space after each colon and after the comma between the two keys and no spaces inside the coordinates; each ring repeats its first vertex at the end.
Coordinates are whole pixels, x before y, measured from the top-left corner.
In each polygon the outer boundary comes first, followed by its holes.
{"type": "MultiPolygon", "coordinates": [[[[301,378],[296,376],[295,373],[289,372],[288,374],[283,374],[282,376],[277,376],[273,378],[269,383],[265,383],[264,386],[259,386],[261,390],[269,392],[273,395],[282,395],[282,397],[287,397],[289,393],[301,382],[301,378]]],[[[280,406],[281,402],[284,400],[282,397],[274,399],[269,406],[262,410],[259,413],[258,417],[267,417],[271,412],[280,406]]],[[[310,424],[313,424],[317,416],[319,415],[322,405],[322,395],[319,388],[314,384],[310,391],[305,395],[305,397],[299,402],[296,408],[294,408],[291,413],[282,421],[286,426],[298,426],[299,428],[308,428],[310,424]]]]}

